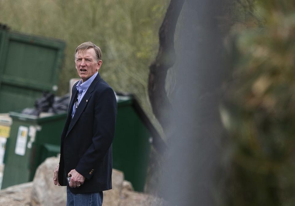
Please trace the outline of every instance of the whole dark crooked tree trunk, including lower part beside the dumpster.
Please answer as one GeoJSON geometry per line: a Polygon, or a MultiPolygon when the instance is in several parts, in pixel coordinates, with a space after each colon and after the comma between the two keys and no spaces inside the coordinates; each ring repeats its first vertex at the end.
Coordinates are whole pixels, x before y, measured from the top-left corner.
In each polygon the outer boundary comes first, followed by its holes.
{"type": "MultiPolygon", "coordinates": [[[[152,111],[162,126],[165,135],[167,135],[169,131],[168,127],[171,125],[172,109],[165,89],[165,79],[168,69],[172,67],[175,62],[174,33],[183,3],[184,0],[170,1],[166,15],[159,29],[159,51],[155,61],[150,65],[148,77],[148,95],[152,111]]],[[[161,191],[159,187],[159,181],[162,176],[161,164],[163,163],[161,155],[167,148],[164,146],[165,144],[161,144],[161,141],[156,138],[154,139],[153,145],[156,150],[151,150],[151,158],[144,190],[145,192],[157,196],[161,191]]]]}

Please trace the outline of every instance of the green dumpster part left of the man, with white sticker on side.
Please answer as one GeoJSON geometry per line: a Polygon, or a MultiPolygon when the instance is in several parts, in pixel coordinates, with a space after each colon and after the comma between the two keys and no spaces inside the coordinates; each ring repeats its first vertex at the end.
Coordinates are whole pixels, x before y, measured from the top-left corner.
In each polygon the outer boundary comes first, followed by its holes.
{"type": "Polygon", "coordinates": [[[32,181],[37,167],[60,153],[66,113],[37,117],[10,112],[12,125],[4,155],[2,189],[32,181]]]}

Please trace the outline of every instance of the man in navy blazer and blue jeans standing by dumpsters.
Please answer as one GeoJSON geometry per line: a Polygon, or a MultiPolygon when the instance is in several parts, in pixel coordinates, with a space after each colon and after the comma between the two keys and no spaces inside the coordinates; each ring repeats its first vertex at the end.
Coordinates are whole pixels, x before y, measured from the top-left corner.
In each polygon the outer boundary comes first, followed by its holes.
{"type": "Polygon", "coordinates": [[[53,182],[67,186],[67,206],[102,205],[102,191],[112,188],[116,96],[98,73],[102,64],[98,46],[79,45],[75,62],[81,80],[72,89],[53,182]]]}

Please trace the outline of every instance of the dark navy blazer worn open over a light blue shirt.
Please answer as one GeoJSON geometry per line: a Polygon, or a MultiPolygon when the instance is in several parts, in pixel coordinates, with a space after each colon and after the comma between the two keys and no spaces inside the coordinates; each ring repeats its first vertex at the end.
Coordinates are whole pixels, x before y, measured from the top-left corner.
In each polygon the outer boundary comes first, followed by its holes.
{"type": "Polygon", "coordinates": [[[86,179],[77,193],[112,189],[112,141],[115,132],[117,101],[112,88],[99,74],[92,81],[72,119],[77,99],[75,83],[68,116],[61,134],[61,156],[58,170],[60,185],[66,186],[67,174],[76,169],[86,179]]]}

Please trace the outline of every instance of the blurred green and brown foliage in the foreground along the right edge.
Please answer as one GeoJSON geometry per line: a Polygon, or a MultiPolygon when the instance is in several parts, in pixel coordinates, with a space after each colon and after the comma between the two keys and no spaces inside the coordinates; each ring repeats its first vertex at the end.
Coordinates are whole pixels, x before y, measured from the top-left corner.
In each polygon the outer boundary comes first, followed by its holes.
{"type": "Polygon", "coordinates": [[[235,30],[221,109],[231,137],[229,205],[294,205],[295,4],[259,1],[253,12],[247,21],[256,23],[235,30]]]}

